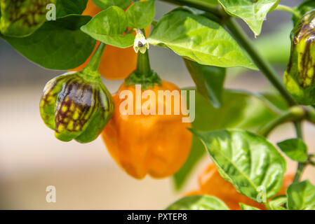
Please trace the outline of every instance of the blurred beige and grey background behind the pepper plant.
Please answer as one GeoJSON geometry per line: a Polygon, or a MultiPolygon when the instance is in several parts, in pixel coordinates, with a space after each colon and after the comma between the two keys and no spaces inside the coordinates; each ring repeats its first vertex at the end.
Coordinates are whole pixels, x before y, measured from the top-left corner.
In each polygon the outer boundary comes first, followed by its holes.
{"type": "MultiPolygon", "coordinates": [[[[281,3],[295,6],[301,1],[281,3]]],[[[156,2],[156,19],[174,8],[156,2]]],[[[241,22],[248,35],[253,33],[241,22]]],[[[274,11],[267,16],[262,35],[253,38],[282,76],[290,52],[292,29],[288,13],[274,11]]],[[[182,59],[163,48],[150,48],[152,68],[162,79],[179,87],[194,85],[182,59]]],[[[197,187],[198,173],[209,163],[204,158],[184,190],[176,193],[171,179],[147,177],[137,181],[125,174],[110,158],[102,139],[90,144],[55,139],[39,115],[41,91],[48,80],[63,71],[48,71],[18,54],[0,40],[0,209],[164,209],[187,190],[197,187]],[[46,187],[55,186],[57,202],[46,202],[46,187]]],[[[121,81],[104,80],[110,92],[121,81]]],[[[228,88],[263,91],[270,88],[259,72],[229,69],[228,88]]],[[[315,126],[304,124],[305,141],[315,152],[315,126]]],[[[273,143],[294,137],[292,125],[272,133],[273,143]]],[[[289,172],[296,164],[288,163],[289,172]]],[[[315,184],[315,169],[309,167],[303,179],[315,184]]]]}

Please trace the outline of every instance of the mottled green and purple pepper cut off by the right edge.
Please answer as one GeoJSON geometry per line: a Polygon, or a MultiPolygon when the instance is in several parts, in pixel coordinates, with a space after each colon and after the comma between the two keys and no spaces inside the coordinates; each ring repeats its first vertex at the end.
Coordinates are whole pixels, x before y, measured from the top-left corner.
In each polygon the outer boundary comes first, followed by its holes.
{"type": "Polygon", "coordinates": [[[315,104],[315,10],[297,22],[291,32],[291,41],[284,83],[299,104],[315,104]]]}

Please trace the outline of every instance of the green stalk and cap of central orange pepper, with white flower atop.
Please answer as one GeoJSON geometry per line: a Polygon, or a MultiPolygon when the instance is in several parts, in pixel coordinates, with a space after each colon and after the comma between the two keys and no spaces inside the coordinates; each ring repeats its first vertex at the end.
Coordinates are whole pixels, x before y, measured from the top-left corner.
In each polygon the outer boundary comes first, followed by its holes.
{"type": "Polygon", "coordinates": [[[155,84],[161,85],[161,78],[151,69],[149,61],[149,43],[145,39],[145,34],[137,29],[135,36],[135,44],[133,46],[135,52],[138,52],[137,69],[125,80],[125,85],[141,84],[142,90],[154,87],[155,84]]]}

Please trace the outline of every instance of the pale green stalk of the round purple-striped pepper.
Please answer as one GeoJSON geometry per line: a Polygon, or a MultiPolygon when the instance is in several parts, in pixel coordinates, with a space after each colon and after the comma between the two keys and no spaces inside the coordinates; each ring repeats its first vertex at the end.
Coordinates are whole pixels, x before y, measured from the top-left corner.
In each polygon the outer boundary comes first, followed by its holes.
{"type": "Polygon", "coordinates": [[[100,45],[98,45],[98,48],[92,55],[90,62],[88,62],[88,65],[83,69],[84,73],[87,73],[89,76],[93,76],[95,78],[100,77],[100,73],[98,73],[98,67],[100,66],[100,60],[102,59],[105,46],[106,44],[102,42],[100,45]]]}

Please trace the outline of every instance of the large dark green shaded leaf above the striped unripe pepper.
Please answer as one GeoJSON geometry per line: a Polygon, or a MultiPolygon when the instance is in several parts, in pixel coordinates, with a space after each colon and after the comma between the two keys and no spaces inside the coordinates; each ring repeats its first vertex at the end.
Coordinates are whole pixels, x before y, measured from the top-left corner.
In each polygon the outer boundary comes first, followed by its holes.
{"type": "Polygon", "coordinates": [[[86,61],[96,43],[80,30],[89,20],[90,16],[67,15],[45,22],[31,36],[2,38],[27,59],[46,69],[74,69],[86,61]]]}

